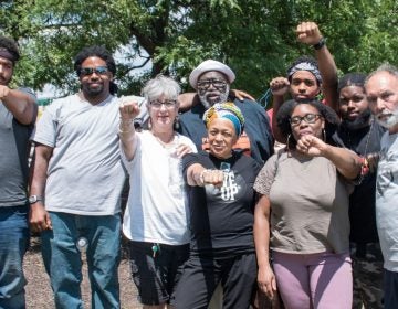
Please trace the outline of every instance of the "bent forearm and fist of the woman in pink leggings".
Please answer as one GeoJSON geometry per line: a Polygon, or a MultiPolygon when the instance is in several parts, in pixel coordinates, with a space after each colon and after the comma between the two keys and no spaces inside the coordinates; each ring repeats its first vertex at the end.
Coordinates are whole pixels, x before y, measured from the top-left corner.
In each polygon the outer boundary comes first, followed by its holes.
{"type": "Polygon", "coordinates": [[[360,158],[346,148],[334,147],[325,143],[314,136],[303,136],[297,141],[296,149],[311,157],[325,157],[337,168],[346,179],[355,179],[360,172],[360,158]]]}

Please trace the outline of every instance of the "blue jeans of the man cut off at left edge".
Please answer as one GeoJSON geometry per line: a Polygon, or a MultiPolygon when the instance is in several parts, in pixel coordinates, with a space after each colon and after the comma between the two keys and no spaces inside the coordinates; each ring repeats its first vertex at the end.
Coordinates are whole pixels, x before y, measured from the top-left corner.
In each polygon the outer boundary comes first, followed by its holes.
{"type": "Polygon", "coordinates": [[[25,308],[22,259],[29,246],[29,206],[0,207],[0,309],[25,308]]]}

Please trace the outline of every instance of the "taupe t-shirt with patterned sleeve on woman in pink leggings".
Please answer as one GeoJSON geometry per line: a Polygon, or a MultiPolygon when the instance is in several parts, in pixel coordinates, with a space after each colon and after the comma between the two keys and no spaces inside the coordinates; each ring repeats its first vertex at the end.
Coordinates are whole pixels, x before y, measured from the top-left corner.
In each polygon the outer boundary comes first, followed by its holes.
{"type": "Polygon", "coordinates": [[[347,253],[348,185],[323,157],[273,154],[254,190],[271,201],[271,249],[347,253]]]}

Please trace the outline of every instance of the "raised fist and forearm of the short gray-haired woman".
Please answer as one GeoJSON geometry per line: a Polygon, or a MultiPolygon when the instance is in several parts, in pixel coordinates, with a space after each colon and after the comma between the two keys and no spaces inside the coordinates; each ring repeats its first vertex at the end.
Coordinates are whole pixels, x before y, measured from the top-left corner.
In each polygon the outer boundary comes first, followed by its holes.
{"type": "Polygon", "coordinates": [[[128,161],[132,161],[137,149],[137,136],[134,128],[134,118],[139,114],[139,106],[136,102],[122,103],[119,106],[119,139],[123,151],[128,161]]]}

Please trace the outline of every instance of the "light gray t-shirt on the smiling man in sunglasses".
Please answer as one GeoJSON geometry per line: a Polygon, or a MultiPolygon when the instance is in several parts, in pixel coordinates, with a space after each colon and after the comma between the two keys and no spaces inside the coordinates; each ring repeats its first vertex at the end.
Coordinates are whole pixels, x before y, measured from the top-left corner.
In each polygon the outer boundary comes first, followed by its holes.
{"type": "Polygon", "coordinates": [[[33,140],[50,146],[45,209],[82,215],[121,211],[125,181],[118,147],[118,99],[91,105],[78,95],[54,100],[33,140]]]}

